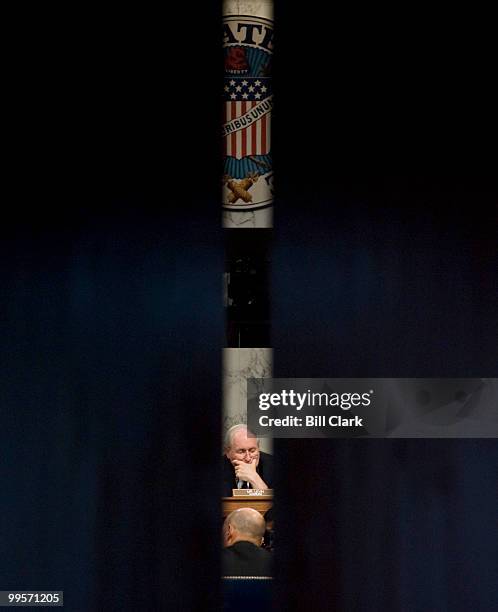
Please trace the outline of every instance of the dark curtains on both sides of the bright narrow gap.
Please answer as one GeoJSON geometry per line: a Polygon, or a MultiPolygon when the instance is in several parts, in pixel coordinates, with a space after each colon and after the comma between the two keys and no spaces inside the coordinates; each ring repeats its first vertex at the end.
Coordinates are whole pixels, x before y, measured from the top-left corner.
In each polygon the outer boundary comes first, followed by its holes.
{"type": "MultiPolygon", "coordinates": [[[[490,20],[277,8],[275,374],[496,376],[490,20]]],[[[0,584],[217,609],[219,10],[44,11],[10,28],[0,584]]],[[[278,609],[492,609],[496,445],[366,442],[276,444],[278,609]]]]}

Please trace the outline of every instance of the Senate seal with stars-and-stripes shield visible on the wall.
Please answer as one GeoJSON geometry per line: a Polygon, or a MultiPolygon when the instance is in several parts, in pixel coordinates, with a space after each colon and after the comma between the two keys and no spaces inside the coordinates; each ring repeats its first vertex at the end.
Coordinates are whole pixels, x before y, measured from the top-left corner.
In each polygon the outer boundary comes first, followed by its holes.
{"type": "Polygon", "coordinates": [[[271,205],[272,22],[231,16],[224,23],[223,206],[271,205]]]}

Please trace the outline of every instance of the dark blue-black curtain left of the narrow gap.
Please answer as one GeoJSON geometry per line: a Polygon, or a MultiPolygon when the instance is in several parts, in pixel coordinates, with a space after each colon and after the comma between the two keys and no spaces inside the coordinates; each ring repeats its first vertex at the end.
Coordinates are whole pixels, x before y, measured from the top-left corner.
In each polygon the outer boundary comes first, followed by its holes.
{"type": "Polygon", "coordinates": [[[67,610],[219,606],[220,11],[168,11],[16,43],[0,583],[67,610]]]}

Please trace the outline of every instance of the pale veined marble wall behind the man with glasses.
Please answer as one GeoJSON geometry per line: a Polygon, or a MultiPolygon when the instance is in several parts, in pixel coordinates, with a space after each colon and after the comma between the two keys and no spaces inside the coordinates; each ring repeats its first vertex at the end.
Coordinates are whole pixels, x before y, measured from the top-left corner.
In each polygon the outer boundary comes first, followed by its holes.
{"type": "MultiPolygon", "coordinates": [[[[271,378],[270,348],[227,348],[223,351],[223,437],[227,429],[247,420],[247,379],[271,378]]],[[[272,452],[272,441],[261,438],[260,448],[272,452]]]]}

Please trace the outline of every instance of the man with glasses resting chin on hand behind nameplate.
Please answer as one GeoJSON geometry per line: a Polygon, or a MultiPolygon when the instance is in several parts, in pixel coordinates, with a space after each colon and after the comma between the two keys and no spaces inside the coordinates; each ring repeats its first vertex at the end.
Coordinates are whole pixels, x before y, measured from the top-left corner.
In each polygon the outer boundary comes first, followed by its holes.
{"type": "Polygon", "coordinates": [[[231,427],[225,437],[223,496],[232,489],[271,489],[273,458],[259,450],[259,441],[242,423],[231,427]]]}

